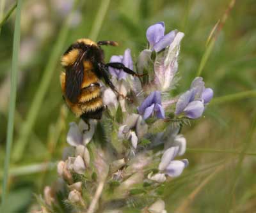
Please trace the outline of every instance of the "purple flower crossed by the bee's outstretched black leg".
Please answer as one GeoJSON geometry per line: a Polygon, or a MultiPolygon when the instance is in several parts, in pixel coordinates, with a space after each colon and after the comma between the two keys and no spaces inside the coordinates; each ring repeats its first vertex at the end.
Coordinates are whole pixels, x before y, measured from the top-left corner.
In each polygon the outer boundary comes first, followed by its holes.
{"type": "MultiPolygon", "coordinates": [[[[110,59],[110,62],[121,62],[130,70],[133,70],[131,50],[129,48],[125,50],[124,55],[113,55],[110,59]]],[[[117,80],[125,79],[127,75],[127,73],[125,73],[123,70],[118,70],[110,67],[109,72],[111,73],[111,75],[113,75],[113,77],[116,77],[117,80]]]]}

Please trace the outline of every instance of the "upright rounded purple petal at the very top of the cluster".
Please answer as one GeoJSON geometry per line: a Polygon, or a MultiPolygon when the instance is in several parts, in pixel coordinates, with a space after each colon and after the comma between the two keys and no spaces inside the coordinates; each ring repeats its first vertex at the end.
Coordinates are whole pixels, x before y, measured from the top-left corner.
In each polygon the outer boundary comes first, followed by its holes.
{"type": "Polygon", "coordinates": [[[147,40],[149,42],[150,48],[154,46],[157,41],[159,41],[164,36],[164,22],[158,22],[147,29],[147,40]]]}

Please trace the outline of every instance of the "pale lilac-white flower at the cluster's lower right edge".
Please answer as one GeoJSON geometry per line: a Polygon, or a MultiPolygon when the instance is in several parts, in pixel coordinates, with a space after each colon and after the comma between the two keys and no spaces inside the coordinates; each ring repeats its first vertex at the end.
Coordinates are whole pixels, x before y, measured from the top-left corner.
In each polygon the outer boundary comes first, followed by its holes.
{"type": "Polygon", "coordinates": [[[164,151],[158,169],[170,177],[179,176],[188,166],[188,159],[173,160],[179,152],[179,147],[170,147],[164,151]]]}

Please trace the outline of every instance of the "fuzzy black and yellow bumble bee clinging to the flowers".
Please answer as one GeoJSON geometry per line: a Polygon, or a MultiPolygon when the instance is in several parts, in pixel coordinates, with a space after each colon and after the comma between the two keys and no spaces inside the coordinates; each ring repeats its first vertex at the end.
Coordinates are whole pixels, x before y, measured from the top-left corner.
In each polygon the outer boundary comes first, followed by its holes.
{"type": "MultiPolygon", "coordinates": [[[[88,119],[100,119],[104,105],[99,80],[103,79],[119,96],[120,94],[109,79],[108,68],[123,70],[140,77],[120,62],[104,63],[101,45],[117,46],[115,41],[94,41],[82,38],[68,47],[61,58],[65,71],[61,72],[61,91],[68,108],[88,123],[88,119]]],[[[124,96],[123,96],[124,97],[124,96]]]]}

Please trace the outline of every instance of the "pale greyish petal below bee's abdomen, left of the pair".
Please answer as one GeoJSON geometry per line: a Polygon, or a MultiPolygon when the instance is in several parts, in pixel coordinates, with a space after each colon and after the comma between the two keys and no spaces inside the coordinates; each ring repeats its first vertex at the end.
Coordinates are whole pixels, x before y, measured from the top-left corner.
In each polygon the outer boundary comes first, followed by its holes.
{"type": "Polygon", "coordinates": [[[79,130],[77,124],[75,122],[70,122],[69,124],[70,128],[68,130],[67,134],[67,142],[76,147],[77,145],[82,144],[82,134],[79,130]]]}

